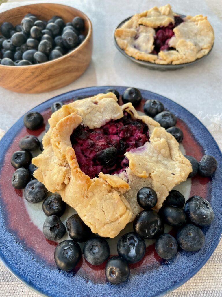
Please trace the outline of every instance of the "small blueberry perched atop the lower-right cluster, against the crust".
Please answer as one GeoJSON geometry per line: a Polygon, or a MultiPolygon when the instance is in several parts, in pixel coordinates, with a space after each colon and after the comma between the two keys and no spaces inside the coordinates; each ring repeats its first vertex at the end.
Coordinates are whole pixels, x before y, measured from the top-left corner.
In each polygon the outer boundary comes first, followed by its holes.
{"type": "Polygon", "coordinates": [[[150,209],[157,204],[157,193],[150,187],[141,188],[136,198],[139,206],[145,209],[150,209]]]}

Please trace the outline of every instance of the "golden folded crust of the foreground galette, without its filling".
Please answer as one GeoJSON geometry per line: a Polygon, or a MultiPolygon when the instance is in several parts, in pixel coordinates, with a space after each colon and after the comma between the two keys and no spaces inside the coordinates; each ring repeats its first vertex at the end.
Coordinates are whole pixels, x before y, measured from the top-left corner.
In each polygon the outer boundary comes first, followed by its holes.
{"type": "Polygon", "coordinates": [[[141,187],[155,189],[156,208],[160,208],[168,192],[192,171],[171,134],[149,116],[139,116],[131,103],[120,107],[117,101],[115,94],[107,93],[63,105],[49,119],[43,153],[32,160],[38,166],[35,178],[75,208],[92,232],[110,238],[141,211],[136,201],[141,187]],[[148,126],[149,141],[125,153],[129,160],[125,171],[114,175],[100,172],[91,179],[78,165],[70,135],[79,125],[94,129],[121,119],[125,111],[148,126]]]}

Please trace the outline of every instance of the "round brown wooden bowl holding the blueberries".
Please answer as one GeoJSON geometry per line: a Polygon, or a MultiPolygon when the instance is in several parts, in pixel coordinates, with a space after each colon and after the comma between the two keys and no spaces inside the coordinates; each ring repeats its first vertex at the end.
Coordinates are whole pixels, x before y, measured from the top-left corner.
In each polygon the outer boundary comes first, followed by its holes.
{"type": "Polygon", "coordinates": [[[31,4],[16,7],[0,13],[0,25],[10,22],[21,23],[27,13],[35,14],[41,20],[59,15],[65,23],[75,16],[85,21],[85,40],[73,51],[61,58],[28,66],[6,66],[0,64],[0,86],[20,93],[41,93],[59,89],[76,80],[88,67],[92,56],[92,24],[80,10],[61,4],[31,4]]]}

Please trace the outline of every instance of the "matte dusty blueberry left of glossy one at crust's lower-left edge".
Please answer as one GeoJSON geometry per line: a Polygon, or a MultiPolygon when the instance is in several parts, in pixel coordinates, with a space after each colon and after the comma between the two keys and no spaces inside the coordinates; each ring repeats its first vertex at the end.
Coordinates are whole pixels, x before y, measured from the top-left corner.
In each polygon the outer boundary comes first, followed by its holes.
{"type": "Polygon", "coordinates": [[[49,240],[59,240],[66,233],[65,225],[57,216],[47,217],[42,230],[45,237],[49,240]]]}

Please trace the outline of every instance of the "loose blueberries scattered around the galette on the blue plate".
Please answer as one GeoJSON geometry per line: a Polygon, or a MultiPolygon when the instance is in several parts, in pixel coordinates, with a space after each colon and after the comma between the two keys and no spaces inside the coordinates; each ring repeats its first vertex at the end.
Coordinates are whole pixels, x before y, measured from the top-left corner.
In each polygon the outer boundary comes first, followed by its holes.
{"type": "MultiPolygon", "coordinates": [[[[119,99],[119,93],[114,89],[107,89],[105,93],[110,91],[115,93],[119,99]]],[[[81,99],[84,97],[77,97],[74,100],[81,99]]],[[[139,104],[141,102],[140,91],[128,88],[125,90],[122,100],[124,103],[139,104]]],[[[60,109],[62,105],[62,102],[54,102],[51,107],[52,113],[60,109]]],[[[144,104],[144,111],[155,119],[157,115],[162,119],[163,104],[157,100],[147,100],[144,104]]],[[[163,116],[163,122],[159,121],[161,126],[165,127],[164,120],[169,122],[173,116],[170,118],[163,116]]],[[[38,112],[29,112],[24,116],[23,121],[26,128],[35,130],[42,127],[44,119],[38,112]]],[[[49,124],[46,125],[46,130],[48,129],[49,124]]],[[[78,214],[68,218],[65,227],[60,217],[65,212],[66,203],[58,194],[47,197],[47,189],[44,184],[33,177],[33,172],[37,168],[31,164],[31,151],[38,149],[43,151],[38,138],[27,135],[20,139],[19,147],[21,150],[16,151],[11,158],[11,164],[16,169],[12,176],[12,186],[16,189],[24,189],[24,197],[30,203],[44,200],[42,209],[47,217],[43,225],[43,233],[46,238],[59,240],[65,235],[66,230],[69,232],[71,239],[59,243],[54,252],[55,263],[60,269],[71,271],[75,268],[82,257],[78,243],[85,242],[83,247],[85,259],[92,265],[100,265],[107,261],[106,279],[112,284],[118,284],[130,276],[128,263],[137,263],[143,259],[146,251],[144,239],[156,239],[156,252],[165,260],[173,258],[178,248],[192,252],[203,247],[205,236],[201,227],[209,225],[214,219],[210,203],[200,196],[192,196],[185,203],[185,198],[180,192],[171,190],[157,213],[152,209],[157,203],[156,192],[150,187],[143,187],[137,193],[137,202],[144,210],[134,219],[134,232],[126,233],[119,238],[118,256],[110,257],[110,247],[106,239],[92,234],[91,229],[78,214]],[[165,225],[176,228],[175,237],[164,233],[165,225]]],[[[197,173],[206,177],[213,176],[217,168],[217,161],[213,156],[205,155],[199,163],[192,156],[185,157],[189,159],[193,169],[189,178],[194,177],[197,173]]]]}

